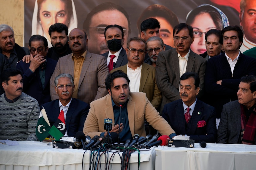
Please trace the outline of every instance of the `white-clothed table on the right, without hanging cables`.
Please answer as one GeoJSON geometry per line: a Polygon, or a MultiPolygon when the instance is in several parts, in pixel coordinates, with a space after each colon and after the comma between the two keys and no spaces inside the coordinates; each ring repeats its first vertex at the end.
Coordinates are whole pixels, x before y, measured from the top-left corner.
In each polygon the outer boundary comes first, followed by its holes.
{"type": "Polygon", "coordinates": [[[159,146],[155,150],[155,169],[256,169],[256,145],[207,143],[206,148],[201,148],[195,143],[195,148],[159,146]]]}

